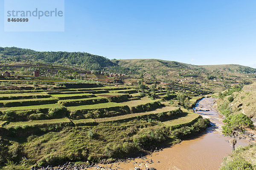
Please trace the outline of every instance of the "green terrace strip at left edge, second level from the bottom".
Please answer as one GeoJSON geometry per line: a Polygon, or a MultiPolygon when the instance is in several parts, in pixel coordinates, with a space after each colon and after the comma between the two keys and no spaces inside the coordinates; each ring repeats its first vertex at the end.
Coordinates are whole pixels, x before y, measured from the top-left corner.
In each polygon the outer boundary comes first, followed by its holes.
{"type": "Polygon", "coordinates": [[[59,104],[42,104],[42,105],[34,105],[34,106],[20,106],[20,107],[9,107],[3,108],[5,111],[15,111],[15,110],[30,110],[30,109],[51,109],[55,107],[61,107],[59,104]]]}

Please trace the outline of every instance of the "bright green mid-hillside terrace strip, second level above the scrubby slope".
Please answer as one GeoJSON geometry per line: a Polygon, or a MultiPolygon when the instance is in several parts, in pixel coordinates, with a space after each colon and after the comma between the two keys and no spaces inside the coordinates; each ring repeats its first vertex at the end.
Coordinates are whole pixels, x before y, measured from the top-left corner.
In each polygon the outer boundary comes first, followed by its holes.
{"type": "Polygon", "coordinates": [[[83,110],[83,109],[102,109],[102,108],[118,107],[118,106],[125,106],[125,105],[110,102],[110,103],[100,103],[100,104],[92,104],[92,105],[72,106],[72,107],[67,107],[67,109],[69,109],[70,111],[75,111],[75,110],[83,110]]]}

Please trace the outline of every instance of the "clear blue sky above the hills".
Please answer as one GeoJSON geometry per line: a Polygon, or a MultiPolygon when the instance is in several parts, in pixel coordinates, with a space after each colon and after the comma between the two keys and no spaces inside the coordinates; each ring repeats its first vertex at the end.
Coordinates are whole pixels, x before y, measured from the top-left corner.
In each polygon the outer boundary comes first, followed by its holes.
{"type": "Polygon", "coordinates": [[[4,32],[0,5],[2,47],[256,67],[256,0],[65,0],[64,32],[4,32]]]}

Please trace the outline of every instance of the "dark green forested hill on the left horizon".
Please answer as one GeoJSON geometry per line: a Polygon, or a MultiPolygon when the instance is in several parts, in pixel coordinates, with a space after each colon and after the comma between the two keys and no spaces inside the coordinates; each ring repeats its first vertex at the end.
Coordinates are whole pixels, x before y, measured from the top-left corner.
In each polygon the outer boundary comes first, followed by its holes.
{"type": "Polygon", "coordinates": [[[111,62],[108,58],[86,52],[37,52],[31,49],[17,47],[0,47],[0,61],[2,63],[15,61],[34,61],[48,64],[58,63],[88,70],[132,73],[130,69],[122,68],[111,62]]]}

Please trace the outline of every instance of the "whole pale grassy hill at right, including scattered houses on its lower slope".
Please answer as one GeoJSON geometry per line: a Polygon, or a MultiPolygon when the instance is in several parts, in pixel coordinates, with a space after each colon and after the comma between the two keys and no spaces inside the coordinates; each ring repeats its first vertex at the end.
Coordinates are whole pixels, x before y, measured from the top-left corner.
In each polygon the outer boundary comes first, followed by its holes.
{"type": "MultiPolygon", "coordinates": [[[[159,59],[111,60],[113,63],[141,72],[144,78],[183,83],[204,83],[223,89],[234,84],[245,85],[256,81],[256,69],[237,64],[197,66],[159,59]]],[[[139,76],[139,75],[137,75],[139,76]]]]}

